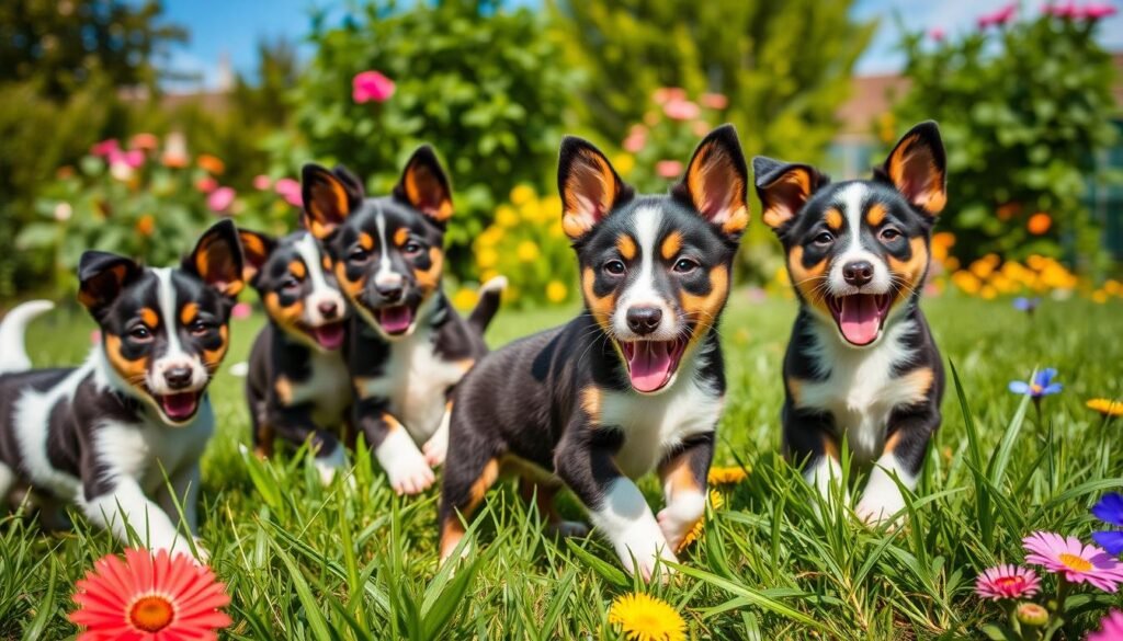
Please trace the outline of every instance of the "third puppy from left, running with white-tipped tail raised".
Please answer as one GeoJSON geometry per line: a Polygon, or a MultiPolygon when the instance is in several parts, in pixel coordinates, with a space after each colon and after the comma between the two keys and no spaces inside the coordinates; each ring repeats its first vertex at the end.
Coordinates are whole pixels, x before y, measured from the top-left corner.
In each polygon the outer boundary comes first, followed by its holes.
{"type": "Polygon", "coordinates": [[[448,395],[486,354],[483,332],[504,281],[465,320],[440,289],[451,190],[432,149],[414,152],[393,192],[365,198],[346,170],[305,165],[304,211],[354,319],[345,349],[354,424],[399,494],[423,492],[445,460],[448,395]],[[422,446],[424,455],[418,449],[422,446]]]}

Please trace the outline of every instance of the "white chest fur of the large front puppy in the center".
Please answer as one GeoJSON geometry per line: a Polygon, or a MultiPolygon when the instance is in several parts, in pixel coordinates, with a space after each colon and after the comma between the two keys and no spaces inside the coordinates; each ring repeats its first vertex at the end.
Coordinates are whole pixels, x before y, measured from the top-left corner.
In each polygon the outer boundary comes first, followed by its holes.
{"type": "Polygon", "coordinates": [[[626,476],[643,476],[672,448],[692,436],[713,431],[718,424],[724,399],[697,382],[693,373],[681,374],[669,390],[654,396],[631,391],[604,394],[601,424],[623,432],[615,461],[626,476]]]}

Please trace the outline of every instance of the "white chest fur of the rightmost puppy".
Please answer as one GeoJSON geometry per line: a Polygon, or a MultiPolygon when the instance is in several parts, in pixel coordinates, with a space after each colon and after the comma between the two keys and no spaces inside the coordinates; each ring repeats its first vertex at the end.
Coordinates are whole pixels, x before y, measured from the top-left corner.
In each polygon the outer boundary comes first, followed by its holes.
{"type": "Polygon", "coordinates": [[[894,376],[894,368],[909,360],[903,340],[914,330],[911,321],[896,323],[877,345],[858,349],[843,345],[833,328],[815,328],[805,356],[829,375],[822,381],[797,382],[795,404],[830,412],[860,461],[875,460],[882,455],[893,410],[922,400],[926,392],[894,376]]]}

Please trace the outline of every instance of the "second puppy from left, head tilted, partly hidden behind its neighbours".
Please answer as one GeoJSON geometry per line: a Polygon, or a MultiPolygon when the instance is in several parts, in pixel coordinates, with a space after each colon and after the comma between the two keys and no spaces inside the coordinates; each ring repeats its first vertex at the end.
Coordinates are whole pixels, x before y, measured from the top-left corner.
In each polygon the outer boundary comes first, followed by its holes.
{"type": "Polygon", "coordinates": [[[238,235],[246,281],[270,317],[254,341],[246,378],[255,449],[267,456],[274,437],[294,446],[311,439],[316,467],[330,483],[346,460],[339,436],[351,404],[343,357],[347,302],[331,262],[308,231],[238,235]]]}

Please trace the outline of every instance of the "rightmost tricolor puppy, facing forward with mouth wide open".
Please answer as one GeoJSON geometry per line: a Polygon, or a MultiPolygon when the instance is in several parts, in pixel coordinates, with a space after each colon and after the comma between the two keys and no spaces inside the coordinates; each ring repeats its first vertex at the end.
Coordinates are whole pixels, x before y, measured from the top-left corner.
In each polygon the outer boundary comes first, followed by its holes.
{"type": "Polygon", "coordinates": [[[752,162],[800,297],[784,360],[785,449],[825,496],[846,436],[857,460],[875,464],[857,507],[867,522],[904,507],[893,477],[916,486],[940,425],[943,366],[917,303],[944,164],[934,122],[909,131],[868,181],[829,184],[807,165],[752,162]]]}

